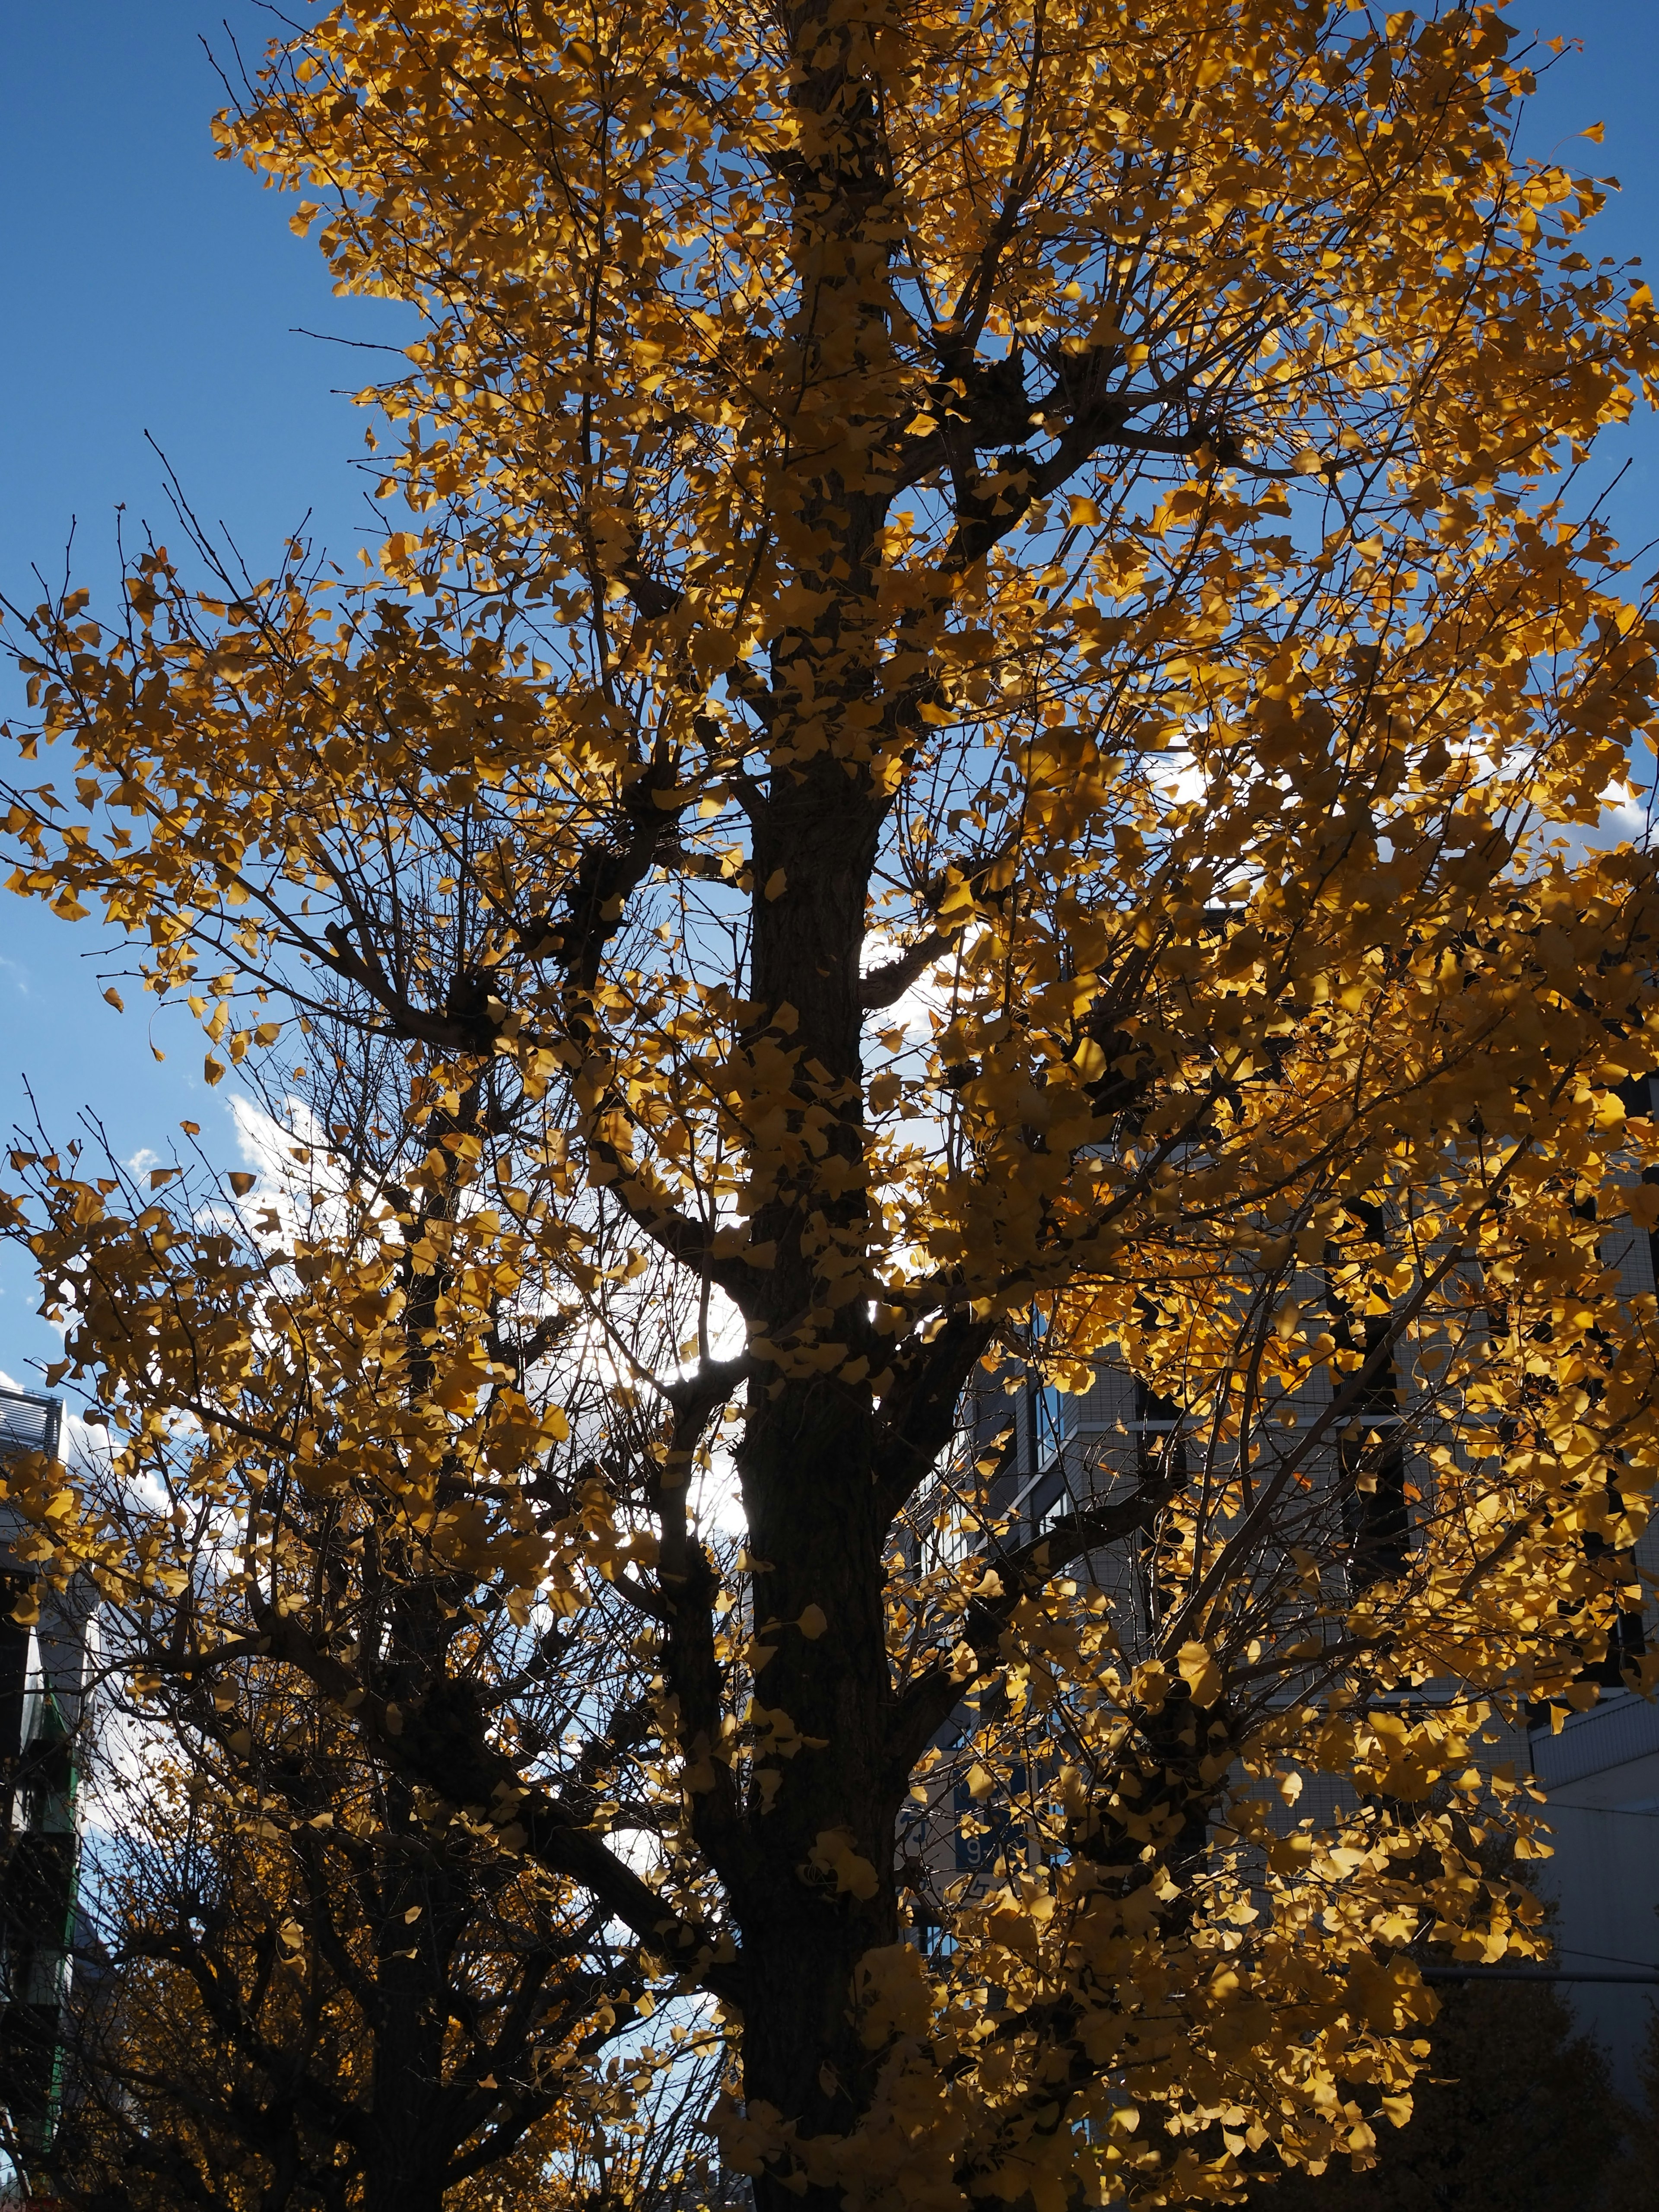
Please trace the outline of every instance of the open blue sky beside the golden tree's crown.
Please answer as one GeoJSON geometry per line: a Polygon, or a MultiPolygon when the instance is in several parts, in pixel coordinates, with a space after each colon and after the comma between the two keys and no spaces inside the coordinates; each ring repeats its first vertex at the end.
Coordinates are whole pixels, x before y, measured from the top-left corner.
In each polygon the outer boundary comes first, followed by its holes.
{"type": "MultiPolygon", "coordinates": [[[[1619,177],[1599,250],[1646,252],[1659,268],[1659,4],[1528,0],[1511,15],[1522,31],[1584,44],[1528,108],[1524,148],[1619,177]],[[1606,124],[1606,142],[1573,144],[1593,122],[1606,124]]],[[[230,64],[226,20],[257,55],[270,15],[248,0],[9,11],[0,588],[13,599],[40,597],[31,564],[62,575],[71,520],[77,582],[95,599],[115,575],[119,502],[128,538],[142,520],[177,538],[157,447],[195,511],[226,524],[259,573],[307,513],[336,553],[363,535],[361,480],[347,467],[363,418],[336,387],[361,383],[369,356],[296,332],[403,343],[407,319],[385,301],[334,299],[316,250],[288,230],[292,201],[212,157],[221,86],[201,40],[230,64]]],[[[1659,429],[1641,422],[1608,440],[1608,473],[1617,460],[1630,469],[1613,511],[1635,546],[1659,533],[1659,429]]],[[[13,697],[0,677],[0,699],[13,697]]],[[[27,1117],[27,1077],[58,1135],[91,1108],[122,1157],[166,1157],[179,1119],[195,1119],[215,1157],[234,1164],[223,1091],[201,1084],[199,1033],[188,1020],[148,1024],[108,1009],[95,949],[88,925],[0,898],[0,1135],[27,1117]]],[[[22,1376],[55,1349],[27,1270],[0,1252],[0,1371],[22,1376]]]]}

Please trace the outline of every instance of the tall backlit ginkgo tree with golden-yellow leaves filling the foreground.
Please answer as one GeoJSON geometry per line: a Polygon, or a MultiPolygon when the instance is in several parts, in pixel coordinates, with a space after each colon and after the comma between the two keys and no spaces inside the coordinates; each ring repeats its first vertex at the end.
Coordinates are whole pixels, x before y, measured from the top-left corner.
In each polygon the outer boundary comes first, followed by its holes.
{"type": "Polygon", "coordinates": [[[719,2006],[765,2212],[1365,2159],[1405,1947],[1531,1942],[1480,1725],[1595,1694],[1655,1464],[1659,902],[1586,836],[1657,633],[1566,504],[1655,319],[1509,49],[323,13],[221,137],[422,314],[403,526],[20,617],[13,887],[299,1155],[20,1144],[157,1502],[35,1467],[35,1557],[719,2006]],[[1106,1369],[1161,1429],[1011,1517],[1002,1385],[1106,1369]]]}

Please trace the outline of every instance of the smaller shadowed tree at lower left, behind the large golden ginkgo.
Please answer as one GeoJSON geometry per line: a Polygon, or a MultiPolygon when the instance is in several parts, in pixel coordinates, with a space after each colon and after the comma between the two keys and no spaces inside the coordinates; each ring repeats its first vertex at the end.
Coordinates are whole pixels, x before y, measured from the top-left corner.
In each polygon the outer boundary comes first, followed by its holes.
{"type": "MultiPolygon", "coordinates": [[[[133,1630],[119,1606],[111,1628],[133,1630]]],[[[648,2042],[602,1913],[387,1787],[316,1701],[186,1677],[164,1705],[161,1743],[150,1708],[142,1756],[100,1776],[53,2192],[100,2212],[710,2201],[690,2119],[712,2042],[648,2042]]]]}

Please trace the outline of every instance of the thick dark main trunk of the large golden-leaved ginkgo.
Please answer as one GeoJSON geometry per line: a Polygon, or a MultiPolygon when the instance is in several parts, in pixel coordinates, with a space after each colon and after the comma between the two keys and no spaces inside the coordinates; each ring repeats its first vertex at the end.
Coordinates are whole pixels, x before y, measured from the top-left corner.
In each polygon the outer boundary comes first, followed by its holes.
{"type": "MultiPolygon", "coordinates": [[[[845,675],[845,672],[843,672],[845,675]]],[[[823,701],[818,701],[823,708],[823,701]]],[[[783,869],[776,900],[757,900],[752,995],[796,1009],[787,1046],[799,1093],[834,1110],[830,1155],[863,1164],[860,951],[883,805],[827,754],[774,779],[757,825],[757,883],[783,869]],[[830,1075],[830,1084],[812,1073],[830,1075]],[[814,1097],[816,1095],[816,1097],[814,1097]]],[[[761,1015],[765,1020],[765,1013],[761,1015]]],[[[759,1329],[845,1345],[841,1360],[880,1367],[869,1323],[867,1203],[858,1181],[830,1194],[812,1159],[783,1172],[754,1214],[776,1261],[757,1292],[759,1329]]],[[[750,1807],[757,1865],[732,1880],[743,1960],[743,2088],[801,2139],[852,2132],[869,2104],[876,2059],[854,2020],[854,1969],[898,1940],[896,1785],[887,1730],[883,1555],[887,1506],[874,1480],[876,1409],[867,1385],[763,1367],[750,1389],[739,1475],[754,1562],[754,1621],[774,1657],[754,1697],[807,1741],[776,1761],[770,1812],[750,1807]],[[794,1624],[821,1608],[827,1626],[794,1624]],[[863,1891],[863,1893],[860,1893],[863,1891]]],[[[779,1725],[779,1723],[774,1723],[779,1725]]],[[[841,2188],[757,2183],[765,2212],[838,2208],[841,2188]]]]}

